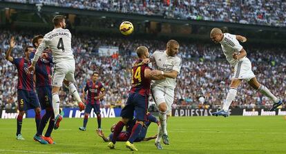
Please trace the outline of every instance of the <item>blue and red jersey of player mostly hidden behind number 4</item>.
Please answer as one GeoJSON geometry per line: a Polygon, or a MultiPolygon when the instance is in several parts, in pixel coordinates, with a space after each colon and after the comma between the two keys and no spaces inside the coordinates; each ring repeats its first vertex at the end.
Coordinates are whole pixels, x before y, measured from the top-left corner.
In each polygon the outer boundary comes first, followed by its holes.
{"type": "MultiPolygon", "coordinates": [[[[30,53],[30,59],[34,58],[35,52],[30,53]]],[[[36,87],[40,86],[51,86],[52,84],[52,66],[53,66],[53,57],[51,52],[48,52],[48,58],[40,58],[37,61],[35,66],[35,75],[36,75],[36,87]]]]}

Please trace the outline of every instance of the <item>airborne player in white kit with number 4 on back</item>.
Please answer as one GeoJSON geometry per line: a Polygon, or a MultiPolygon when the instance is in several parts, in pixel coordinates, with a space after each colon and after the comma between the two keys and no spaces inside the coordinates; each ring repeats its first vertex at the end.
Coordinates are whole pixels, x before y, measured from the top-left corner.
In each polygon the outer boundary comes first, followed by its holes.
{"type": "Polygon", "coordinates": [[[59,88],[62,83],[68,86],[70,93],[77,100],[80,110],[84,110],[84,104],[77,93],[77,88],[73,82],[75,81],[75,59],[73,57],[73,50],[71,48],[72,35],[66,28],[65,17],[56,15],[53,19],[55,29],[48,32],[45,36],[39,48],[35,52],[35,57],[32,59],[32,65],[28,68],[28,72],[35,70],[35,64],[37,63],[41,53],[45,48],[50,48],[53,53],[54,71],[52,79],[52,95],[53,95],[53,110],[55,113],[55,126],[59,128],[59,122],[61,122],[61,115],[59,115],[59,88]]]}

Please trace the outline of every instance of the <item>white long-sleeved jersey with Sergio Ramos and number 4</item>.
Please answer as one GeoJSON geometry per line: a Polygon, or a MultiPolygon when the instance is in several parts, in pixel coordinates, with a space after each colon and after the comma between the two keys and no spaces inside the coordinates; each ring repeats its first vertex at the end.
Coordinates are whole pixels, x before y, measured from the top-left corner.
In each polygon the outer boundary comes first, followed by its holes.
{"type": "Polygon", "coordinates": [[[39,52],[37,55],[41,55],[45,48],[50,48],[53,52],[53,61],[55,63],[74,60],[71,38],[70,30],[55,28],[44,36],[44,40],[37,48],[37,52],[39,52]]]}

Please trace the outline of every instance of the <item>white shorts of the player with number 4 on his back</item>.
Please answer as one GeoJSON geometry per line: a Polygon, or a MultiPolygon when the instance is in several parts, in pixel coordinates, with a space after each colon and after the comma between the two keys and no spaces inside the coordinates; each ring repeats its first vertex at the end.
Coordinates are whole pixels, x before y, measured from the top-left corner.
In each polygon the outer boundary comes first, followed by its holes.
{"type": "Polygon", "coordinates": [[[60,61],[54,65],[52,86],[61,87],[64,79],[75,81],[75,61],[60,61]]]}

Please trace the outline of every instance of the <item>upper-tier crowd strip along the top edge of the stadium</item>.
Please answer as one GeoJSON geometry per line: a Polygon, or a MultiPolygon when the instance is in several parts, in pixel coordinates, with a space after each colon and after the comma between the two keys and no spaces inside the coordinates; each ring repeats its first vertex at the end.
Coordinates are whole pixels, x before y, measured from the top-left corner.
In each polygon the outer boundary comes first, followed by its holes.
{"type": "Polygon", "coordinates": [[[284,0],[4,0],[43,3],[88,10],[157,15],[172,19],[226,21],[267,26],[286,26],[284,0]]]}

